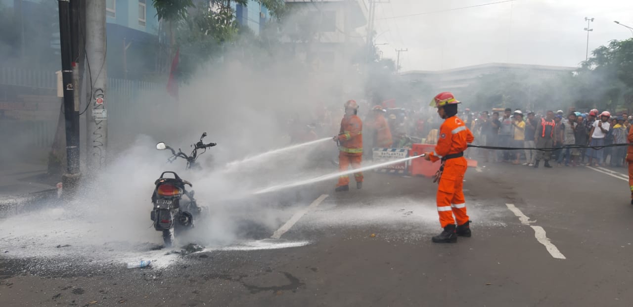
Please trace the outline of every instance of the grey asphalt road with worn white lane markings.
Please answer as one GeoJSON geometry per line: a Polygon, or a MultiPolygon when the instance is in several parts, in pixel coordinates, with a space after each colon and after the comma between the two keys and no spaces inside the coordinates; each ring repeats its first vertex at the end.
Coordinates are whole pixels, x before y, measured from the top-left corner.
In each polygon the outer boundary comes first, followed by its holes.
{"type": "MultiPolygon", "coordinates": [[[[58,239],[38,247],[53,256],[24,256],[29,239],[8,231],[0,306],[633,306],[624,169],[470,168],[473,237],[456,244],[430,241],[441,229],[429,179],[332,185],[285,191],[275,222],[244,218],[237,243],[146,268],[65,256],[58,239]]],[[[152,244],[132,248],[168,252],[152,244]]]]}

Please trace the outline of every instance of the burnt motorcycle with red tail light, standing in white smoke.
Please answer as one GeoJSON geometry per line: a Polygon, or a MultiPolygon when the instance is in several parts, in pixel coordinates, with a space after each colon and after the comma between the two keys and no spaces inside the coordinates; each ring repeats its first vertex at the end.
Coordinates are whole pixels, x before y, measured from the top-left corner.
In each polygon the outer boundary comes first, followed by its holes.
{"type": "MultiPolygon", "coordinates": [[[[196,162],[197,158],[206,153],[206,149],[216,146],[216,143],[204,144],[203,139],[206,132],[200,137],[200,141],[193,144],[191,154],[187,155],[178,149],[176,152],[172,147],[167,146],[164,142],[156,144],[156,149],[172,151],[172,156],[168,158],[168,162],[172,163],[178,158],[187,161],[185,169],[191,168],[201,169],[196,162]],[[199,153],[198,151],[202,152],[199,153]]],[[[159,179],[154,182],[155,188],[152,194],[152,203],[154,209],[151,212],[151,220],[154,222],[154,229],[163,233],[163,241],[165,246],[172,246],[175,236],[182,231],[192,229],[194,227],[194,218],[197,218],[202,209],[197,206],[194,197],[194,191],[185,189],[186,185],[192,187],[191,182],[180,178],[176,172],[163,172],[159,179]],[[165,177],[171,174],[173,177],[165,177]],[[183,196],[186,196],[183,197],[183,196]]]]}

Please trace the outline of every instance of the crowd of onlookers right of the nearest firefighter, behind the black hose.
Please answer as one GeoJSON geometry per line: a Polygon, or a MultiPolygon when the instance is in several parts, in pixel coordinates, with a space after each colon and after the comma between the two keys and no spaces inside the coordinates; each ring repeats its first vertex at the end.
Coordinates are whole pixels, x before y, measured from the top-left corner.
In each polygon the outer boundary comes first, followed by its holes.
{"type": "MultiPolygon", "coordinates": [[[[620,167],[625,165],[626,146],[592,148],[568,148],[568,146],[601,147],[610,144],[626,144],[633,118],[627,113],[611,115],[608,111],[591,110],[580,113],[570,110],[547,111],[544,115],[534,112],[482,111],[475,118],[470,110],[463,115],[475,135],[476,145],[526,148],[480,149],[484,161],[508,162],[539,167],[592,165],[620,167]],[[536,150],[532,148],[555,148],[536,150]]],[[[473,154],[472,152],[470,153],[473,154]]]]}

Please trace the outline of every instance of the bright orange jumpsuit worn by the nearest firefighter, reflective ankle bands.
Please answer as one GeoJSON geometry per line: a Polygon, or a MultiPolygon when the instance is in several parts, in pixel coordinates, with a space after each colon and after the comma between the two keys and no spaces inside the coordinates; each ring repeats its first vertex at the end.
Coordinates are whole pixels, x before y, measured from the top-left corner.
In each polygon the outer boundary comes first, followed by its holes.
{"type": "MultiPolygon", "coordinates": [[[[441,160],[448,154],[457,154],[465,151],[468,144],[475,140],[472,132],[468,130],[464,122],[457,116],[451,116],[444,120],[439,128],[439,139],[433,153],[430,154],[431,161],[441,160]]],[[[446,225],[458,225],[468,222],[466,214],[466,202],[464,200],[463,180],[467,161],[464,157],[448,159],[444,163],[444,172],[437,186],[437,213],[442,228],[446,225]]]]}

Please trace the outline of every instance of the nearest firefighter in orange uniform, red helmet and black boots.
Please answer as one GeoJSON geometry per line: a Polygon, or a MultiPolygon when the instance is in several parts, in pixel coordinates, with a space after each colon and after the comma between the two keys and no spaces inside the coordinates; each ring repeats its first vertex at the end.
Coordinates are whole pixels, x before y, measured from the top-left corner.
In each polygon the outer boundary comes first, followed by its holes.
{"type": "Polygon", "coordinates": [[[475,137],[465,123],[456,116],[459,103],[450,92],[441,92],[431,101],[431,106],[435,106],[437,114],[444,119],[435,151],[426,153],[424,157],[434,162],[442,161],[436,179],[439,180],[437,213],[444,230],[433,237],[433,242],[436,243],[457,242],[458,235],[463,237],[471,235],[470,220],[466,214],[466,202],[462,189],[464,174],[468,167],[463,156],[468,148],[467,143],[474,141],[475,137]],[[455,225],[453,215],[455,215],[457,225],[455,225]]]}

